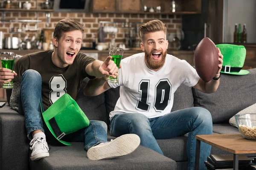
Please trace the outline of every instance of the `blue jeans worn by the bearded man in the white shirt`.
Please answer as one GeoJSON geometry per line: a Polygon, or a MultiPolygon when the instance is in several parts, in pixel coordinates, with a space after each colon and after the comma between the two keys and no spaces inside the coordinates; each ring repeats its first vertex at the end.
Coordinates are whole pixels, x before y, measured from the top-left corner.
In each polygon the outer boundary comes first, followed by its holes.
{"type": "MultiPolygon", "coordinates": [[[[140,144],[163,155],[156,139],[170,139],[188,134],[188,170],[195,167],[196,135],[212,134],[212,117],[204,108],[194,107],[148,119],[140,113],[122,113],[111,118],[111,136],[134,133],[140,136],[140,144]]],[[[211,146],[201,142],[199,169],[206,169],[204,161],[210,155],[211,146]]]]}

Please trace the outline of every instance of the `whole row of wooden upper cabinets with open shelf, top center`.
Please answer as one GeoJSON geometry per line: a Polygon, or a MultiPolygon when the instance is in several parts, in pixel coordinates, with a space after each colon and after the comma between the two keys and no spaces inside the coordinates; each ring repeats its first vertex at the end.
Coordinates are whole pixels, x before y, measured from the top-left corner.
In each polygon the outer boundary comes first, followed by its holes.
{"type": "Polygon", "coordinates": [[[129,14],[200,14],[202,0],[175,0],[176,11],[171,12],[172,0],[93,0],[95,13],[129,14]],[[153,7],[154,12],[144,11],[144,6],[153,7]],[[156,12],[160,6],[161,11],[156,12]]]}

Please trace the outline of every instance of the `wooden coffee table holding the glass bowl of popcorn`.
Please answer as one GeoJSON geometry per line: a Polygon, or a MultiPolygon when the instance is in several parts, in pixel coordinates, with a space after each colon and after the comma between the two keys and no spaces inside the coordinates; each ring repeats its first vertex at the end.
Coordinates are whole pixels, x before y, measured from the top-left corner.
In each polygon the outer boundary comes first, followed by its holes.
{"type": "Polygon", "coordinates": [[[201,141],[234,154],[233,170],[238,170],[238,156],[256,153],[256,141],[245,139],[240,133],[196,135],[195,170],[199,169],[201,141]]]}

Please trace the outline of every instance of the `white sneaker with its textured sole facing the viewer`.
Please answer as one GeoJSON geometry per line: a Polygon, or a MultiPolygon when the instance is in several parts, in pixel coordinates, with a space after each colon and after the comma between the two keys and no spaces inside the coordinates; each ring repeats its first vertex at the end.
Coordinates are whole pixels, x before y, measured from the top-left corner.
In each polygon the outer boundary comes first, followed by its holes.
{"type": "Polygon", "coordinates": [[[136,134],[126,134],[118,138],[91,147],[87,157],[91,160],[110,159],[132,153],[140,145],[140,137],[136,134]]]}

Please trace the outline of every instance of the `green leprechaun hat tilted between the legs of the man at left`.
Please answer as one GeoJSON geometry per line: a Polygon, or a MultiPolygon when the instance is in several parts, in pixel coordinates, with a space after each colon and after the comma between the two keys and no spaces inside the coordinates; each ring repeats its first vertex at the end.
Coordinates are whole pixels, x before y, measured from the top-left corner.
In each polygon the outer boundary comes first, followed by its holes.
{"type": "Polygon", "coordinates": [[[63,136],[89,125],[89,119],[69,94],[61,96],[42,115],[52,135],[65,145],[71,143],[60,140],[63,136]]]}

